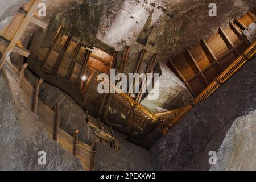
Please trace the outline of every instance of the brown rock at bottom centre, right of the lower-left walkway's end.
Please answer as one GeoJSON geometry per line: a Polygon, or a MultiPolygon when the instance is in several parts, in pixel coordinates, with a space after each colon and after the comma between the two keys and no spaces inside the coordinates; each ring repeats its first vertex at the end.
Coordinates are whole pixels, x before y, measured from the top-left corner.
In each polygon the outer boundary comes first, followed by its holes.
{"type": "Polygon", "coordinates": [[[154,156],[147,150],[131,143],[121,143],[120,147],[122,150],[114,150],[97,143],[95,169],[106,171],[154,171],[157,169],[154,156]]]}

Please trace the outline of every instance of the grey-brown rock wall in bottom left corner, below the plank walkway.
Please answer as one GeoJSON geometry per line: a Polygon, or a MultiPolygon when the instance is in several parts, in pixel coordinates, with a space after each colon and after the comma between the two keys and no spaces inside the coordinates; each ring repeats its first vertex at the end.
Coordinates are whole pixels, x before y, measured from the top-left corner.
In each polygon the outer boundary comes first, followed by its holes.
{"type": "Polygon", "coordinates": [[[78,159],[48,137],[38,117],[28,109],[16,82],[9,86],[0,73],[0,170],[82,170],[78,159]],[[38,152],[46,152],[46,165],[38,152]]]}

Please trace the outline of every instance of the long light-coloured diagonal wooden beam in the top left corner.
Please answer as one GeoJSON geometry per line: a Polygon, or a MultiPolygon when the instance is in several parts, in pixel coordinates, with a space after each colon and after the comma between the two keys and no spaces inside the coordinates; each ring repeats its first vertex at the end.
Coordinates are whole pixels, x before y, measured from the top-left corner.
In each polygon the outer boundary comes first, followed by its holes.
{"type": "Polygon", "coordinates": [[[3,52],[3,55],[0,59],[0,70],[2,69],[3,65],[5,64],[6,57],[10,55],[10,53],[13,51],[13,49],[16,46],[16,43],[19,41],[21,36],[23,35],[23,32],[26,30],[28,23],[30,23],[35,11],[38,9],[38,4],[40,0],[35,0],[33,5],[30,8],[30,11],[28,11],[27,16],[23,19],[22,23],[20,24],[19,29],[16,31],[16,34],[14,35],[13,39],[11,40],[9,46],[5,49],[3,52]]]}

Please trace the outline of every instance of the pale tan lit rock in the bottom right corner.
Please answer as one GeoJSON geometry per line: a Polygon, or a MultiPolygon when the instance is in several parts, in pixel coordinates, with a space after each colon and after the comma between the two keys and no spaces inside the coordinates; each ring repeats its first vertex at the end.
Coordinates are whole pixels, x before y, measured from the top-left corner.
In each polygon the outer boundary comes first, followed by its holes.
{"type": "Polygon", "coordinates": [[[256,110],[230,127],[211,170],[256,170],[256,110]]]}

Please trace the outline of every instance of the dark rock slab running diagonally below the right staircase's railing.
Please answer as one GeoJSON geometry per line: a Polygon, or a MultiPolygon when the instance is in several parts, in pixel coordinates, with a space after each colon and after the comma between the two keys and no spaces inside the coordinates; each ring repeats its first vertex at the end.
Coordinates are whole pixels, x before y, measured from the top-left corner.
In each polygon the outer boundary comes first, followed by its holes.
{"type": "Polygon", "coordinates": [[[209,151],[219,150],[237,117],[256,109],[255,70],[253,59],[150,148],[159,169],[210,168],[209,151]]]}

